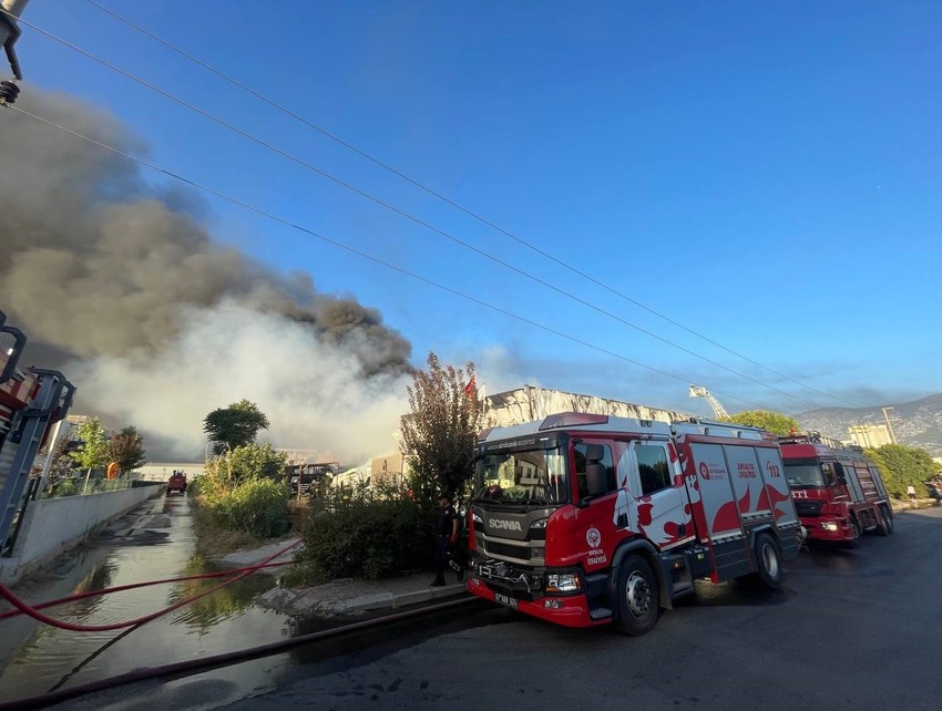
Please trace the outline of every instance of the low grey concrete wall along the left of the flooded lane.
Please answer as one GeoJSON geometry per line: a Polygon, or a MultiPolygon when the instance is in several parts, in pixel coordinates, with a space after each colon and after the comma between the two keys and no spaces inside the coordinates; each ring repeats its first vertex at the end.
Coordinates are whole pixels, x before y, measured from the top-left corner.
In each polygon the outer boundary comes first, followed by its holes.
{"type": "Polygon", "coordinates": [[[150,484],[30,502],[12,557],[0,558],[0,579],[16,581],[163,491],[163,485],[150,484]]]}

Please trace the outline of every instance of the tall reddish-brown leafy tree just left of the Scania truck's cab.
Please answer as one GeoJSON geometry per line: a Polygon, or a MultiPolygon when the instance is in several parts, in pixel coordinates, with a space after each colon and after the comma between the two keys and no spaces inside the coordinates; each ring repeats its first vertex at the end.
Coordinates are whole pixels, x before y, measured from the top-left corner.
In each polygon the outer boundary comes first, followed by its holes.
{"type": "Polygon", "coordinates": [[[411,488],[427,502],[457,494],[471,478],[480,412],[474,363],[442,367],[429,351],[428,371],[412,373],[411,414],[402,419],[403,454],[411,455],[411,488]]]}

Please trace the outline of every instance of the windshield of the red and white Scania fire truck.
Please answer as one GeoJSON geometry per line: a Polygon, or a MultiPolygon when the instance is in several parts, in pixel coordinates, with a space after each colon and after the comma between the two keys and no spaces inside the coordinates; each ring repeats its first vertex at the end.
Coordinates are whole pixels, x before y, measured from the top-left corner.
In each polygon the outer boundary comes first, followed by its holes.
{"type": "Polygon", "coordinates": [[[474,471],[474,498],[495,504],[553,506],[569,498],[563,451],[485,454],[474,471]]]}

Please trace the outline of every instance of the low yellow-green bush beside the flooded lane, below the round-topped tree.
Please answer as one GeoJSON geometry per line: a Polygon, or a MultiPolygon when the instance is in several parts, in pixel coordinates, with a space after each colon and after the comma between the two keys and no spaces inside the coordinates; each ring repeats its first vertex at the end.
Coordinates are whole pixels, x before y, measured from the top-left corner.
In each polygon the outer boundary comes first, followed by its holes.
{"type": "Polygon", "coordinates": [[[288,492],[270,480],[250,480],[233,490],[204,491],[202,503],[218,525],[244,530],[259,538],[273,538],[288,532],[288,492]]]}

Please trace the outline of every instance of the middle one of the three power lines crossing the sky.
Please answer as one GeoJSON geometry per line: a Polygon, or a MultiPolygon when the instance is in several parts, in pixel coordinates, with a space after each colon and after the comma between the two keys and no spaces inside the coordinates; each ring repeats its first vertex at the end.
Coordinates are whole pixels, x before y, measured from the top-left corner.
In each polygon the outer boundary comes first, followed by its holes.
{"type": "MultiPolygon", "coordinates": [[[[0,10],[0,11],[3,11],[3,10],[0,10]]],[[[3,11],[3,12],[6,12],[6,11],[3,11]]],[[[254,134],[250,134],[243,128],[239,128],[238,126],[235,126],[235,125],[228,123],[226,120],[221,118],[221,117],[209,113],[208,111],[201,109],[199,106],[196,106],[195,104],[192,104],[192,103],[187,102],[186,100],[181,99],[180,96],[176,96],[175,94],[173,94],[173,93],[171,93],[171,92],[168,92],[168,91],[166,91],[166,90],[164,90],[164,89],[162,89],[162,87],[160,87],[160,86],[157,86],[157,85],[155,85],[155,84],[153,84],[153,83],[151,83],[151,82],[126,71],[126,70],[121,69],[120,66],[109,62],[107,60],[104,60],[104,59],[93,54],[92,52],[89,52],[88,50],[84,50],[84,49],[78,47],[76,44],[74,44],[70,41],[64,40],[64,39],[55,35],[55,34],[53,34],[52,32],[49,32],[48,30],[44,30],[44,29],[38,27],[34,23],[27,22],[25,20],[22,20],[22,19],[20,19],[20,21],[23,24],[25,24],[27,27],[30,27],[31,29],[35,30],[37,32],[48,37],[49,39],[51,39],[55,42],[59,42],[59,43],[63,44],[64,47],[68,47],[69,49],[82,54],[83,56],[86,56],[86,58],[93,60],[94,62],[98,62],[99,64],[101,64],[101,65],[125,76],[126,79],[130,79],[130,80],[141,84],[142,86],[145,86],[145,87],[154,91],[155,93],[161,94],[165,99],[168,99],[168,100],[173,101],[174,103],[177,103],[177,104],[184,106],[185,109],[188,109],[188,110],[199,114],[201,116],[208,118],[209,121],[223,126],[224,128],[232,131],[233,133],[235,133],[235,134],[237,134],[237,135],[239,135],[244,138],[247,138],[248,141],[252,141],[253,143],[256,143],[256,144],[272,151],[273,153],[280,155],[284,158],[287,158],[288,161],[291,161],[293,163],[296,163],[296,164],[300,165],[301,167],[304,167],[304,168],[306,168],[306,169],[308,169],[313,173],[316,173],[316,174],[318,174],[318,175],[320,175],[325,178],[328,178],[328,179],[332,181],[334,183],[337,183],[338,185],[356,193],[357,195],[360,195],[361,197],[365,197],[365,198],[376,203],[377,205],[385,207],[386,209],[389,209],[390,212],[393,212],[393,213],[400,215],[401,217],[405,217],[406,219],[409,219],[410,221],[413,221],[417,225],[424,227],[426,229],[429,229],[429,230],[431,230],[431,231],[433,231],[438,235],[441,235],[442,237],[453,241],[454,244],[460,245],[460,246],[464,247],[465,249],[469,249],[469,250],[471,250],[471,251],[473,251],[473,253],[475,253],[475,254],[478,254],[478,255],[480,255],[480,256],[482,256],[487,259],[490,259],[494,264],[499,264],[502,267],[510,269],[511,271],[514,271],[514,272],[530,279],[531,281],[535,281],[536,284],[540,284],[541,286],[543,286],[543,287],[545,287],[545,288],[547,288],[552,291],[555,291],[556,293],[559,293],[561,296],[564,296],[564,297],[566,297],[566,298],[577,302],[577,303],[581,303],[582,306],[585,306],[585,307],[587,307],[587,308],[590,308],[590,309],[592,309],[592,310],[594,310],[594,311],[596,311],[596,312],[598,312],[603,316],[606,316],[606,317],[608,317],[608,318],[611,318],[615,321],[618,321],[620,323],[623,323],[624,326],[633,328],[636,331],[644,333],[645,336],[648,336],[649,338],[653,338],[653,339],[658,340],[658,341],[661,341],[661,342],[663,342],[667,346],[670,346],[672,348],[674,348],[676,350],[679,350],[684,353],[687,353],[688,356],[693,356],[694,358],[698,358],[698,359],[703,360],[704,362],[709,363],[710,365],[714,365],[715,368],[719,368],[720,370],[725,370],[725,371],[727,371],[727,372],[729,372],[734,375],[737,375],[738,378],[743,378],[744,380],[747,380],[747,381],[749,381],[749,382],[751,382],[756,385],[759,385],[761,388],[766,388],[768,390],[777,392],[781,395],[785,395],[786,398],[791,398],[792,400],[797,400],[798,402],[802,402],[802,403],[810,405],[812,408],[821,408],[822,406],[818,403],[811,402],[809,400],[805,400],[803,398],[800,398],[800,396],[795,395],[792,393],[789,393],[785,390],[776,388],[775,385],[770,385],[770,384],[765,383],[760,380],[757,380],[757,379],[755,379],[750,375],[747,375],[746,373],[741,373],[741,372],[739,372],[735,369],[728,368],[727,365],[724,365],[723,363],[719,363],[719,362],[714,361],[709,358],[706,358],[705,356],[702,356],[702,354],[699,354],[699,353],[697,353],[697,352],[695,352],[695,351],[693,351],[688,348],[685,348],[683,346],[674,343],[673,341],[670,341],[670,340],[668,340],[668,339],[666,339],[662,336],[658,336],[658,334],[656,334],[652,331],[648,331],[647,329],[644,329],[644,328],[642,328],[642,327],[639,327],[635,323],[632,323],[631,321],[623,319],[622,317],[620,317],[615,313],[612,313],[611,311],[602,309],[601,307],[597,307],[594,303],[591,303],[590,301],[586,301],[585,299],[583,299],[583,298],[581,298],[581,297],[578,297],[574,293],[565,291],[565,290],[561,289],[560,287],[557,287],[557,286],[555,286],[555,285],[553,285],[549,281],[545,281],[544,279],[541,279],[541,278],[530,274],[529,271],[526,271],[524,269],[521,269],[521,268],[519,268],[519,267],[516,267],[516,266],[514,266],[514,265],[512,265],[508,261],[504,261],[503,259],[500,259],[499,257],[491,255],[490,253],[487,253],[487,251],[484,251],[484,250],[482,250],[478,247],[474,247],[473,245],[455,237],[454,235],[452,235],[452,234],[450,234],[450,233],[448,233],[448,231],[446,231],[446,230],[443,230],[439,227],[436,227],[434,225],[431,225],[430,223],[427,223],[427,221],[422,220],[421,218],[416,217],[414,215],[407,213],[406,210],[403,210],[403,209],[401,209],[401,208],[399,208],[399,207],[397,207],[397,206],[395,206],[390,203],[387,203],[387,202],[382,200],[379,197],[376,197],[375,195],[372,195],[370,193],[367,193],[366,190],[364,190],[361,188],[358,188],[357,186],[355,186],[355,185],[352,185],[352,184],[350,184],[350,183],[348,183],[348,182],[324,171],[322,168],[319,168],[319,167],[308,163],[307,161],[305,161],[305,159],[303,159],[303,158],[300,158],[300,157],[298,157],[298,156],[296,156],[291,153],[288,153],[287,151],[284,151],[284,150],[275,146],[274,144],[272,144],[272,143],[265,141],[265,140],[259,138],[258,136],[255,136],[254,134]]],[[[825,394],[827,394],[827,393],[825,393],[825,394]]]]}

